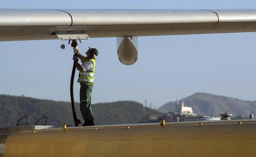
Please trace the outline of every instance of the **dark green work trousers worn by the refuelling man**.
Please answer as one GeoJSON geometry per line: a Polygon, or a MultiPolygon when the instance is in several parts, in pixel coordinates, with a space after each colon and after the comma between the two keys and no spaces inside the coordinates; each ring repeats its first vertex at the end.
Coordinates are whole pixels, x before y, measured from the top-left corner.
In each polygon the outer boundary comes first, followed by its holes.
{"type": "Polygon", "coordinates": [[[94,120],[91,112],[91,91],[93,85],[81,84],[80,86],[80,111],[86,122],[94,120]]]}

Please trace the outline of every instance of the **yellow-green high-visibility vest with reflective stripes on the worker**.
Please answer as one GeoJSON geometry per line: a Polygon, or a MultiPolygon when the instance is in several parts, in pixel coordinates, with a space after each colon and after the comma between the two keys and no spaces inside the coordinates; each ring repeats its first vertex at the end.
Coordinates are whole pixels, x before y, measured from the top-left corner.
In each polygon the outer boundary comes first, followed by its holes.
{"type": "MultiPolygon", "coordinates": [[[[84,60],[82,62],[82,64],[84,64],[85,62],[92,62],[94,65],[94,71],[95,71],[95,60],[94,59],[84,60]]],[[[79,82],[81,84],[92,85],[94,82],[94,71],[88,72],[88,71],[80,70],[79,71],[79,82]]]]}

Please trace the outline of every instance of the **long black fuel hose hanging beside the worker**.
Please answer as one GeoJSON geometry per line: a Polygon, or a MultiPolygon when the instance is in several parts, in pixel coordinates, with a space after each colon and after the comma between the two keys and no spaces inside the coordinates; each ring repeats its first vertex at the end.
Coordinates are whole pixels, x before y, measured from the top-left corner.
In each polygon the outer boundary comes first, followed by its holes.
{"type": "Polygon", "coordinates": [[[74,93],[73,93],[73,84],[74,84],[74,77],[75,77],[75,62],[77,61],[74,61],[71,80],[70,80],[70,97],[71,97],[71,105],[72,105],[72,112],[73,112],[75,126],[78,126],[78,124],[81,124],[81,121],[76,117],[75,101],[74,101],[74,93]]]}

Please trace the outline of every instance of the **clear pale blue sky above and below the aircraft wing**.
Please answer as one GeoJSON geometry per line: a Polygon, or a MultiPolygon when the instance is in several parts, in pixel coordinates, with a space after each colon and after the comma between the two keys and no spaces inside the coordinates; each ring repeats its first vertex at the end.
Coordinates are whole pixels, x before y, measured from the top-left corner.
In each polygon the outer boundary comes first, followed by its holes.
{"type": "MultiPolygon", "coordinates": [[[[107,0],[13,1],[2,9],[256,9],[254,0],[107,0]]],[[[256,100],[256,33],[138,37],[138,60],[132,66],[117,57],[116,38],[93,38],[79,45],[96,47],[93,103],[118,100],[152,102],[160,107],[196,92],[256,100]],[[161,53],[162,57],[155,56],[161,53]],[[157,62],[157,65],[155,64],[157,62]],[[115,75],[110,75],[114,73],[115,75]],[[158,75],[155,75],[158,74],[158,75]],[[159,82],[153,82],[159,80],[159,82]]],[[[0,94],[70,101],[73,51],[59,40],[0,42],[0,94]]],[[[158,55],[159,56],[159,55],[158,55]]],[[[76,72],[75,80],[77,79],[76,72]]],[[[79,101],[79,84],[75,83],[79,101]]]]}

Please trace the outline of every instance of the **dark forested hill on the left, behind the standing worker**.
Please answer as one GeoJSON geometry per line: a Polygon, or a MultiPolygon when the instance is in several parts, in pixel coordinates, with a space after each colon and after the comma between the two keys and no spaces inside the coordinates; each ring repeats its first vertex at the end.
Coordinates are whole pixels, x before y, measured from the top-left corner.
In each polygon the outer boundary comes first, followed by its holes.
{"type": "MultiPolygon", "coordinates": [[[[61,126],[62,123],[73,125],[70,102],[0,95],[0,108],[0,127],[15,126],[18,119],[25,115],[30,115],[30,124],[48,115],[48,125],[61,126]]],[[[159,111],[143,107],[142,104],[133,101],[93,104],[92,110],[96,125],[144,123],[149,122],[152,117],[158,118],[163,115],[159,111]]],[[[76,103],[76,113],[83,123],[78,103],[76,103]]]]}

